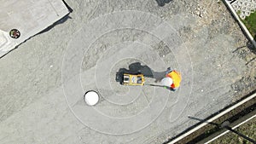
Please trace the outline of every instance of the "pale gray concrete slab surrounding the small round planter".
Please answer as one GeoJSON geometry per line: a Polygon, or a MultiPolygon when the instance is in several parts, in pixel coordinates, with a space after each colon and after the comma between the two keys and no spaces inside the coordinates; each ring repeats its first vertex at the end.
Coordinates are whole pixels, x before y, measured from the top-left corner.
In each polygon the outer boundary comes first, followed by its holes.
{"type": "Polygon", "coordinates": [[[61,0],[2,0],[0,3],[0,57],[69,13],[61,0]],[[20,31],[19,38],[9,36],[12,29],[20,31]]]}

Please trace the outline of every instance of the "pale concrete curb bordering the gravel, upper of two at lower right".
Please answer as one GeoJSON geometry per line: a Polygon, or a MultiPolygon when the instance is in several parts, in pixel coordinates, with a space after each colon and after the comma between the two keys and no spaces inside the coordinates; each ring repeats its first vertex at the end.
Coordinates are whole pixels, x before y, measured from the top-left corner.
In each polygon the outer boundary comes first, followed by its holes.
{"type": "MultiPolygon", "coordinates": [[[[254,93],[253,95],[250,95],[248,96],[246,99],[242,100],[242,101],[239,101],[238,103],[236,103],[235,105],[225,109],[223,112],[219,112],[216,116],[210,118],[207,120],[208,123],[214,121],[215,119],[217,118],[220,118],[222,117],[224,114],[226,114],[227,112],[230,112],[232,111],[233,109],[235,109],[236,107],[239,107],[241,106],[242,104],[244,104],[245,102],[247,101],[250,101],[252,100],[254,97],[256,97],[256,93],[254,93]]],[[[196,126],[194,129],[192,130],[189,130],[188,132],[184,133],[183,135],[180,135],[178,136],[177,138],[173,139],[172,141],[168,142],[168,144],[174,144],[176,143],[177,141],[181,141],[184,137],[194,133],[196,130],[199,130],[201,129],[202,127],[204,127],[205,125],[207,125],[208,123],[202,123],[202,124],[199,124],[198,126],[196,126]]]]}

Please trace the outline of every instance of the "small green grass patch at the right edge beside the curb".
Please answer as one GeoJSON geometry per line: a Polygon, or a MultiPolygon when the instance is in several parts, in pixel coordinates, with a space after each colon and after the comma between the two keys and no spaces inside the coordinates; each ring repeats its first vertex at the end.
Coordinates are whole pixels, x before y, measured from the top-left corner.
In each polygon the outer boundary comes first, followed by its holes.
{"type": "Polygon", "coordinates": [[[245,20],[242,20],[243,23],[247,26],[247,29],[249,32],[251,32],[252,36],[256,37],[256,12],[250,14],[245,18],[245,20]]]}

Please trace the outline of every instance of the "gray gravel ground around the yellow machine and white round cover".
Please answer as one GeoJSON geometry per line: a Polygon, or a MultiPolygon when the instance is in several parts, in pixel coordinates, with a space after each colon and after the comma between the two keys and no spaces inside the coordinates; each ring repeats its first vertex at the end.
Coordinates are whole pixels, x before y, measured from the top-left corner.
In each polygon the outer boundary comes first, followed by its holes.
{"type": "Polygon", "coordinates": [[[0,60],[0,143],[161,143],[195,124],[189,115],[206,118],[255,88],[254,54],[223,3],[67,3],[71,19],[0,60]],[[176,68],[180,89],[115,82],[137,61],[176,68]],[[100,92],[96,107],[84,104],[88,89],[100,92]]]}

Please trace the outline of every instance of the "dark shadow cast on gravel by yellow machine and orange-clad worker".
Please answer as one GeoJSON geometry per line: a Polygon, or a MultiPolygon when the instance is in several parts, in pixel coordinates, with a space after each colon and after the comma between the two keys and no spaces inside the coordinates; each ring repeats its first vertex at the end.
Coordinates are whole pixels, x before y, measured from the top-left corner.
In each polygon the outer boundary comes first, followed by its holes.
{"type": "Polygon", "coordinates": [[[154,78],[155,82],[159,82],[162,78],[166,77],[166,71],[154,72],[149,66],[142,66],[140,62],[135,62],[129,65],[129,69],[120,68],[119,72],[116,72],[115,80],[121,84],[124,78],[124,73],[128,74],[143,74],[144,77],[154,78]]]}

